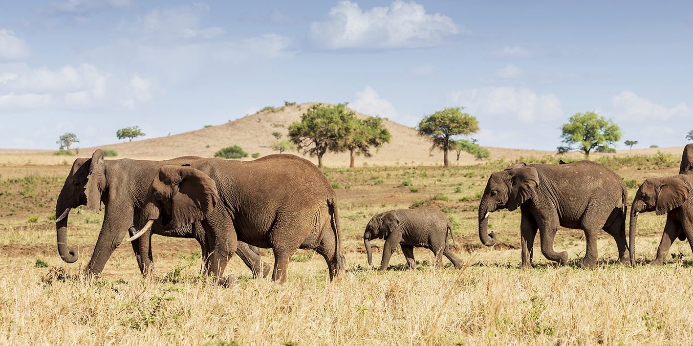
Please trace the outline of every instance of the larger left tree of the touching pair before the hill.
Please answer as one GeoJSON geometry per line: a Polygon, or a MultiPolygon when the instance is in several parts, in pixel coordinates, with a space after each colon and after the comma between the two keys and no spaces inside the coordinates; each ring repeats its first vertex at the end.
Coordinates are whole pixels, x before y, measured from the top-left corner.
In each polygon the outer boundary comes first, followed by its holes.
{"type": "Polygon", "coordinates": [[[288,127],[289,137],[298,150],[304,154],[317,156],[317,166],[322,167],[322,155],[327,150],[344,150],[343,141],[347,136],[349,122],[356,114],[347,108],[346,103],[335,106],[317,103],[301,115],[301,121],[294,121],[288,127]]]}

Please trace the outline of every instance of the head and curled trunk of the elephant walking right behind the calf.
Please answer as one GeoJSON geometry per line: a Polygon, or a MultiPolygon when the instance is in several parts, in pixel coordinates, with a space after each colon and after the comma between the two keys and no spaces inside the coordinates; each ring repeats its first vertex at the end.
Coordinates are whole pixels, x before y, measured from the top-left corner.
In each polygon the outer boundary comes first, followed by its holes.
{"type": "Polygon", "coordinates": [[[491,174],[479,204],[479,239],[484,245],[495,245],[495,233],[487,233],[489,214],[505,208],[514,211],[534,196],[538,184],[536,168],[520,164],[491,174]]]}

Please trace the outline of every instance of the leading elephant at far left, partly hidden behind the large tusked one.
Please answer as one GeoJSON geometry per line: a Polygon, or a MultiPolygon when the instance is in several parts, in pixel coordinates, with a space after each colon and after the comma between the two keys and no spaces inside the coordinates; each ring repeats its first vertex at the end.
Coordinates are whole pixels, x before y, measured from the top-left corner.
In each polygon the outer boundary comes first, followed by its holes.
{"type": "MultiPolygon", "coordinates": [[[[56,220],[69,208],[87,205],[91,211],[98,212],[101,202],[105,207],[103,225],[98,234],[94,254],[86,268],[87,275],[101,273],[106,261],[123,241],[125,234],[134,232],[139,211],[144,203],[149,186],[159,167],[170,164],[185,164],[200,159],[197,156],[178,157],[165,161],[146,161],[134,159],[104,159],[103,150],[98,149],[91,158],[80,157],[75,160],[70,173],[62,186],[58,201],[55,205],[56,220]]],[[[68,211],[69,212],[69,211],[68,211]]],[[[63,261],[73,263],[79,254],[76,249],[68,250],[67,245],[68,216],[55,223],[58,235],[58,252],[63,261]]],[[[209,253],[209,244],[204,236],[200,223],[183,225],[176,229],[168,229],[155,224],[155,234],[179,238],[194,238],[200,242],[204,257],[209,253]]],[[[150,245],[149,245],[150,246],[150,245]]],[[[239,246],[239,255],[251,268],[254,275],[267,275],[269,268],[260,257],[250,250],[247,245],[239,246]],[[263,270],[264,269],[264,270],[263,270]]],[[[148,266],[143,266],[139,240],[132,242],[132,250],[137,257],[137,263],[143,275],[147,275],[148,266]]],[[[152,261],[151,249],[145,254],[148,262],[152,261]]]]}

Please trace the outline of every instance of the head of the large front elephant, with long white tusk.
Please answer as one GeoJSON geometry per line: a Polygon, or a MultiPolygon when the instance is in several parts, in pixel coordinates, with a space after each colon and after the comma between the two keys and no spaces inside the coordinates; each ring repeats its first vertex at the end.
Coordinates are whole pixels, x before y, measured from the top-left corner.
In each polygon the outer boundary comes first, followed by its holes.
{"type": "Polygon", "coordinates": [[[204,220],[218,199],[216,184],[207,174],[189,165],[163,166],[147,191],[139,216],[140,230],[128,241],[148,232],[155,220],[167,228],[204,220]]]}

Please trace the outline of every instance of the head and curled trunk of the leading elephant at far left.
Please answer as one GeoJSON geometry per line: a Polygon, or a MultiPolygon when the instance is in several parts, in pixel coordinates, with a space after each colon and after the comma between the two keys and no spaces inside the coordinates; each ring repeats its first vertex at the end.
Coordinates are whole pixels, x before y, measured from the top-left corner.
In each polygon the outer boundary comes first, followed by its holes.
{"type": "Polygon", "coordinates": [[[58,234],[58,253],[67,263],[74,263],[79,258],[75,249],[67,250],[67,216],[70,209],[80,205],[87,205],[91,211],[99,211],[101,193],[105,188],[104,169],[103,150],[97,149],[91,159],[75,160],[60,190],[55,203],[55,230],[58,234]]]}

